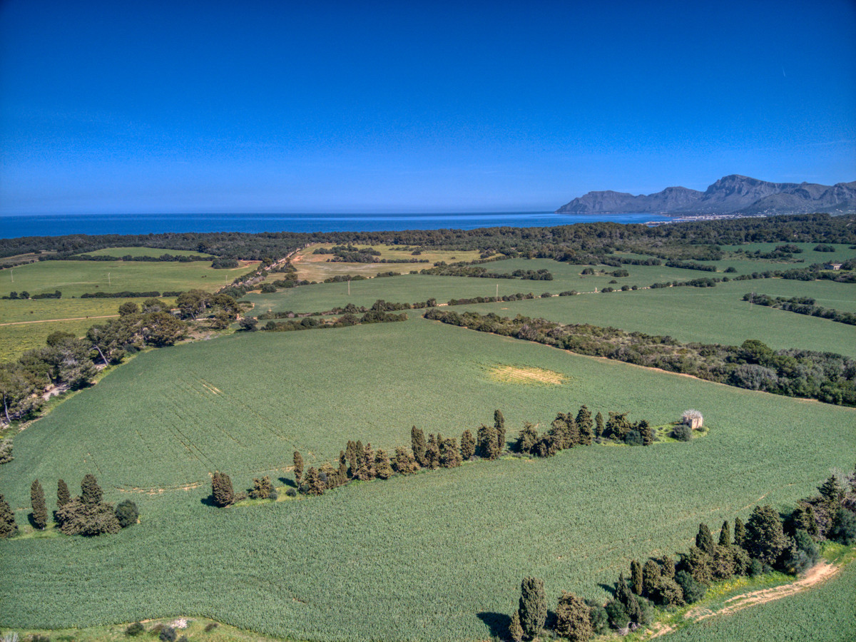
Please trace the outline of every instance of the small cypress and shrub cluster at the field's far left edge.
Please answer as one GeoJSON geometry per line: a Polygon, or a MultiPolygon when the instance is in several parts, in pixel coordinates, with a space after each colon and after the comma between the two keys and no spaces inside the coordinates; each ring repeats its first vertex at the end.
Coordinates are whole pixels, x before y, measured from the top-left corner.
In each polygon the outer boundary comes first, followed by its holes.
{"type": "MultiPolygon", "coordinates": [[[[49,516],[45,502],[45,489],[39,479],[30,486],[30,504],[33,511],[29,518],[33,526],[44,531],[48,526],[49,516]]],[[[60,479],[56,483],[56,510],[53,520],[64,535],[83,535],[92,537],[104,533],[116,534],[122,528],[137,523],[139,517],[137,505],[126,499],[116,508],[113,504],[104,502],[104,492],[98,485],[98,480],[87,474],[80,482],[80,495],[72,497],[68,485],[60,479]]],[[[18,534],[15,523],[15,513],[9,507],[9,502],[0,495],[0,539],[12,538],[18,534]]]]}

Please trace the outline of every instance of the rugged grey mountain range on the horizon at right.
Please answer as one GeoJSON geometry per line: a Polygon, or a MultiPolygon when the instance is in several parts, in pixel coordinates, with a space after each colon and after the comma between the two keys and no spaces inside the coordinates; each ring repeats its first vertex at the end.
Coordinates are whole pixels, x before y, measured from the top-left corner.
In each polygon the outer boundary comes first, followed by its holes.
{"type": "Polygon", "coordinates": [[[856,212],[856,181],[770,183],[732,174],[723,176],[704,192],[687,187],[666,187],[654,194],[589,192],[562,205],[556,214],[846,214],[856,212]]]}

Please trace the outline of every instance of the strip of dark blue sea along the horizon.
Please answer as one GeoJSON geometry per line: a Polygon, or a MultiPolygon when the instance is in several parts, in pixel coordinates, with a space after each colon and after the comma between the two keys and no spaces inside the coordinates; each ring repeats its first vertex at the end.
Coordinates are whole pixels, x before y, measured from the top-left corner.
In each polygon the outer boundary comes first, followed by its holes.
{"type": "Polygon", "coordinates": [[[544,211],[443,214],[40,214],[0,217],[0,238],[163,232],[371,232],[400,229],[554,227],[669,221],[656,214],[568,215],[544,211]]]}

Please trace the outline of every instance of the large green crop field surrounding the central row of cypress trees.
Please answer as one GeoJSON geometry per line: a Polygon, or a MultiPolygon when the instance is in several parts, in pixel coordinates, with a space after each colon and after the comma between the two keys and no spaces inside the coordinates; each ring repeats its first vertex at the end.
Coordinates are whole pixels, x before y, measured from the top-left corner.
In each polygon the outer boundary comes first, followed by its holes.
{"type": "MultiPolygon", "coordinates": [[[[796,315],[794,315],[796,316],[796,315]]],[[[0,621],[92,626],[208,616],[316,640],[486,639],[507,627],[520,578],[603,596],[630,558],[686,550],[699,521],[785,508],[849,468],[856,412],[578,357],[411,318],[341,330],[253,333],[141,354],[15,437],[0,489],[19,523],[39,478],[95,473],[141,524],[110,538],[0,542],[0,621]],[[496,381],[542,369],[552,385],[496,381]],[[592,446],[549,460],[471,463],[351,484],[317,498],[216,509],[236,489],[307,465],[345,440],[393,449],[409,427],[459,436],[506,417],[630,410],[655,425],[687,407],[709,434],[649,448],[592,446]],[[204,587],[217,587],[216,591],[204,587]],[[81,600],[80,595],[86,599],[81,600]]]]}

